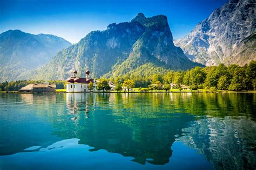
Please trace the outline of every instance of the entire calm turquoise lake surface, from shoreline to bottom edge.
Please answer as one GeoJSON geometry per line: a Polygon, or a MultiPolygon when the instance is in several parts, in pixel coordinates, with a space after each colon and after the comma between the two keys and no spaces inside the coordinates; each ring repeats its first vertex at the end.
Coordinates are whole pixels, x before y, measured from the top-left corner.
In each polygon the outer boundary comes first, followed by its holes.
{"type": "Polygon", "coordinates": [[[255,169],[256,94],[0,94],[0,169],[255,169]]]}

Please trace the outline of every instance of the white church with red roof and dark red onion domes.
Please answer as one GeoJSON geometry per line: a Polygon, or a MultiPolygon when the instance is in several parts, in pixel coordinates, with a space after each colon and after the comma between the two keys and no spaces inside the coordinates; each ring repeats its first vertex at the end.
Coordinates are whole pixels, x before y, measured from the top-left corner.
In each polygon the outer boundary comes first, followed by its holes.
{"type": "Polygon", "coordinates": [[[66,80],[66,92],[67,93],[89,93],[91,91],[96,91],[96,82],[95,79],[89,78],[90,71],[86,70],[85,77],[77,77],[77,71],[73,71],[71,77],[66,80]],[[88,88],[89,83],[92,82],[93,89],[88,88]]]}

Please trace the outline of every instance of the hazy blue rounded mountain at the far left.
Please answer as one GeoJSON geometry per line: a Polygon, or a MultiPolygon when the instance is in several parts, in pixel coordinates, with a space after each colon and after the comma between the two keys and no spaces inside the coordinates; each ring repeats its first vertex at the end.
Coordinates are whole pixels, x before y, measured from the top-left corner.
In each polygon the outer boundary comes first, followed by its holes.
{"type": "Polygon", "coordinates": [[[0,81],[11,81],[50,61],[70,42],[50,34],[9,30],[0,34],[0,81]]]}

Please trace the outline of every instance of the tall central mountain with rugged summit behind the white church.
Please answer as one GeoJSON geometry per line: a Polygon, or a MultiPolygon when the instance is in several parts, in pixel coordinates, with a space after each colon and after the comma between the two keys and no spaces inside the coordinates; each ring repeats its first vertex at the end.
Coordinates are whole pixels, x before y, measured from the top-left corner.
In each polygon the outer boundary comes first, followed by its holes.
{"type": "Polygon", "coordinates": [[[30,74],[30,79],[64,80],[76,69],[91,77],[149,76],[168,69],[201,66],[174,46],[166,16],[146,18],[139,13],[130,22],[113,23],[104,31],[92,31],[77,44],[63,49],[30,74]]]}

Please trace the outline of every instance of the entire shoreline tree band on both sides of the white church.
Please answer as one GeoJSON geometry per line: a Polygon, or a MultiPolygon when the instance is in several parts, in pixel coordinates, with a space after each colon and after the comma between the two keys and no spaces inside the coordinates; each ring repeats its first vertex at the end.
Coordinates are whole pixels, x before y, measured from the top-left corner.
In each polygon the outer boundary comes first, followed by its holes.
{"type": "MultiPolygon", "coordinates": [[[[100,79],[97,83],[98,90],[110,90],[109,80],[100,79]]],[[[111,79],[116,84],[116,90],[129,91],[134,87],[151,87],[153,89],[170,89],[170,83],[177,84],[181,87],[182,84],[190,87],[191,90],[205,89],[205,90],[255,90],[256,89],[256,61],[251,61],[248,65],[238,66],[230,65],[210,67],[195,67],[190,70],[169,71],[165,74],[153,74],[149,77],[129,76],[116,77],[111,79]]],[[[0,83],[0,91],[19,90],[29,83],[43,83],[44,81],[27,81],[18,80],[11,82],[0,83]]],[[[56,84],[56,89],[64,89],[66,81],[49,81],[49,83],[56,84]]],[[[92,89],[92,84],[91,89],[92,89]]]]}

